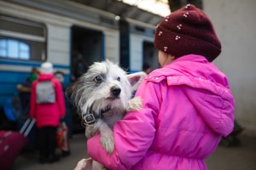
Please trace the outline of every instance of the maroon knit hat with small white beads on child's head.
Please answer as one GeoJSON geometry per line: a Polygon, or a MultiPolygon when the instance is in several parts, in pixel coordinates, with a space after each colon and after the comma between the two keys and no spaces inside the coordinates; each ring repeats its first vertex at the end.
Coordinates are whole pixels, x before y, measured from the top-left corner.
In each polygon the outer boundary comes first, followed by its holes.
{"type": "Polygon", "coordinates": [[[154,47],[175,57],[199,54],[210,62],[221,52],[211,20],[192,4],[169,14],[156,26],[154,47]]]}

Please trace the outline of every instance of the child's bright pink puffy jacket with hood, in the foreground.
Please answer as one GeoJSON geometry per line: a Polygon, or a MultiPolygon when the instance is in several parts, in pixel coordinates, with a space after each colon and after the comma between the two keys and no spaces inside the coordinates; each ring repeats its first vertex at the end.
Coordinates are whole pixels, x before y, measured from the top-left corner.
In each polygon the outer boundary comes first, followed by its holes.
{"type": "Polygon", "coordinates": [[[157,69],[137,90],[143,109],[115,124],[109,155],[100,135],[89,156],[109,169],[199,170],[234,126],[235,101],[227,78],[200,55],[189,54],[157,69]]]}

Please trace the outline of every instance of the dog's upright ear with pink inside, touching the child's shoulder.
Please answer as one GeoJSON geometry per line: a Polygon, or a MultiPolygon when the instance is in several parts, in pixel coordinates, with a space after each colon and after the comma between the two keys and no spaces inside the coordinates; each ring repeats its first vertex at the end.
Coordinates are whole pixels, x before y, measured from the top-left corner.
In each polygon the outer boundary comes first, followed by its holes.
{"type": "Polygon", "coordinates": [[[131,84],[131,92],[137,90],[139,87],[140,83],[143,81],[143,79],[147,76],[147,74],[143,71],[128,74],[128,80],[131,84]]]}

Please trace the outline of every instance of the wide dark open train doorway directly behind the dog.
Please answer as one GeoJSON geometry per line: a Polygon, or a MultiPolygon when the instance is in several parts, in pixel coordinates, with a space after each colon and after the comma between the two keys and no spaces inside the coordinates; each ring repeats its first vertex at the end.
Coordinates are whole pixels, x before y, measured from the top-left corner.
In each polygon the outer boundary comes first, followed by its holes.
{"type": "MultiPolygon", "coordinates": [[[[74,82],[87,71],[89,65],[105,59],[104,37],[102,31],[81,26],[72,26],[71,31],[71,82],[74,82]]],[[[73,131],[84,128],[75,109],[72,109],[72,122],[73,131]]]]}

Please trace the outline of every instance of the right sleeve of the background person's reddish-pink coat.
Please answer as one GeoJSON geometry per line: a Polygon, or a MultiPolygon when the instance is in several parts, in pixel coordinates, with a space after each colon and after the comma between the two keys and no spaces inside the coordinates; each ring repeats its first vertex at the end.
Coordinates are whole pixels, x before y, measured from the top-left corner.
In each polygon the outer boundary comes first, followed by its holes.
{"type": "Polygon", "coordinates": [[[61,117],[66,115],[66,106],[63,90],[61,87],[61,82],[55,80],[55,90],[56,90],[56,100],[61,113],[61,117]]]}

